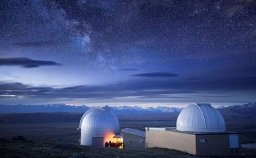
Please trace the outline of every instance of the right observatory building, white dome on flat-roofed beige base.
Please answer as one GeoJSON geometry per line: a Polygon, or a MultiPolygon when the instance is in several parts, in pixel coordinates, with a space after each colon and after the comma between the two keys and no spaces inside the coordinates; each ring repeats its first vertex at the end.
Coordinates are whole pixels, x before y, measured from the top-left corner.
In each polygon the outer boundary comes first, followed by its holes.
{"type": "Polygon", "coordinates": [[[175,127],[146,127],[146,147],[177,149],[198,156],[239,153],[239,133],[227,132],[225,121],[210,104],[185,107],[175,127]]]}

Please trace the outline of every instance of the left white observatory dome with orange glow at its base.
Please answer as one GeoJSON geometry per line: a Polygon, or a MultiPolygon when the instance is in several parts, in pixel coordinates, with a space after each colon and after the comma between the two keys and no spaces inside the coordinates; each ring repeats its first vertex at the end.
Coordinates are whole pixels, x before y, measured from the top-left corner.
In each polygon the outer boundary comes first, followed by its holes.
{"type": "Polygon", "coordinates": [[[81,145],[102,147],[119,133],[119,121],[108,107],[89,109],[80,120],[81,145]]]}

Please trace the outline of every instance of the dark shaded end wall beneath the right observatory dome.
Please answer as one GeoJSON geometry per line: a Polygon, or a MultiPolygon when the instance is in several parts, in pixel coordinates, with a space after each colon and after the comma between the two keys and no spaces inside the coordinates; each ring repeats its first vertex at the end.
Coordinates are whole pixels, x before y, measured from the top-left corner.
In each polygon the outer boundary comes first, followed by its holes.
{"type": "MultiPolygon", "coordinates": [[[[200,156],[237,155],[239,148],[232,150],[229,145],[229,134],[197,135],[197,154],[200,156]],[[206,140],[206,141],[202,141],[206,140]]],[[[239,143],[240,144],[240,143],[239,143]]]]}

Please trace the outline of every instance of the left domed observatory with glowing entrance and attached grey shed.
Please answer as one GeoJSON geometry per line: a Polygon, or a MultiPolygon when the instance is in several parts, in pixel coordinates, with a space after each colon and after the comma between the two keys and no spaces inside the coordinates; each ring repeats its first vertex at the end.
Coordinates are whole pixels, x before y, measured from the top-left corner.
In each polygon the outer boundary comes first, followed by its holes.
{"type": "Polygon", "coordinates": [[[78,130],[81,130],[81,145],[119,149],[145,148],[145,131],[130,128],[120,131],[119,121],[108,106],[87,110],[81,117],[78,130]]]}

